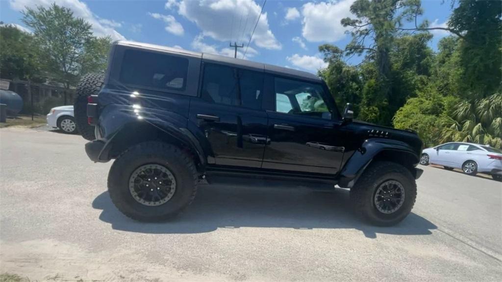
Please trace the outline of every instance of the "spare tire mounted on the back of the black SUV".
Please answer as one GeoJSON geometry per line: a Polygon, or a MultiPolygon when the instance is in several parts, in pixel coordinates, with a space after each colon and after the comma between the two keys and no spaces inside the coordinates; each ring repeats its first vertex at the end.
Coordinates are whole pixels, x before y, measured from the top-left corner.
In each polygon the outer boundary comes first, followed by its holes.
{"type": "Polygon", "coordinates": [[[104,82],[104,75],[100,73],[86,74],[80,79],[77,85],[75,103],[73,104],[73,114],[75,123],[82,137],[87,140],[94,140],[94,126],[87,123],[87,97],[97,95],[104,82]]]}

